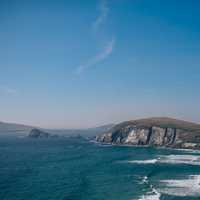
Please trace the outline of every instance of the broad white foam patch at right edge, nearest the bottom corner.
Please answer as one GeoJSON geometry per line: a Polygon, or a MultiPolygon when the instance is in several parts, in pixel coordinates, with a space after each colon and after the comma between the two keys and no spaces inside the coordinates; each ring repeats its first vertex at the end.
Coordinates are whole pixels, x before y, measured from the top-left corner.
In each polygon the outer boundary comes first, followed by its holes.
{"type": "Polygon", "coordinates": [[[200,175],[192,175],[187,179],[162,180],[163,188],[159,191],[173,196],[200,196],[200,175]]]}

